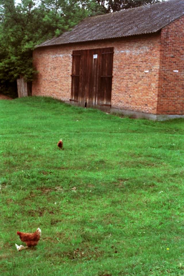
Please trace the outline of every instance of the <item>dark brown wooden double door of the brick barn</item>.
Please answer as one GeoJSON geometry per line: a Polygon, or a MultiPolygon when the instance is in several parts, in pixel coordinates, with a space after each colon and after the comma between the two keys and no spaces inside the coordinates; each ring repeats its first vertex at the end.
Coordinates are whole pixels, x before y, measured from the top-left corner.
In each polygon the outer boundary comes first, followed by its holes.
{"type": "Polygon", "coordinates": [[[71,103],[110,112],[114,48],[72,52],[71,103]]]}

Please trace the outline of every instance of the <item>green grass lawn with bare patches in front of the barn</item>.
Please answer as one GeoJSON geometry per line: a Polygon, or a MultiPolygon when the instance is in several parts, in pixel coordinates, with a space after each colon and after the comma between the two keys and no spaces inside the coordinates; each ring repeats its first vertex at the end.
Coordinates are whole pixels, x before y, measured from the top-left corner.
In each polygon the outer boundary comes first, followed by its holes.
{"type": "Polygon", "coordinates": [[[0,110],[0,275],[184,275],[184,120],[41,97],[0,110]]]}

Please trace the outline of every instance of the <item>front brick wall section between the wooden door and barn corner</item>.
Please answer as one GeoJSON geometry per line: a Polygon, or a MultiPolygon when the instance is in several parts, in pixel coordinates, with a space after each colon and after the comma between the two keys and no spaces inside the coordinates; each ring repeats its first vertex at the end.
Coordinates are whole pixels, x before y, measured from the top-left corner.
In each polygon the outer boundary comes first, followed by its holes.
{"type": "Polygon", "coordinates": [[[124,39],[114,52],[112,107],[156,114],[160,34],[124,39]]]}

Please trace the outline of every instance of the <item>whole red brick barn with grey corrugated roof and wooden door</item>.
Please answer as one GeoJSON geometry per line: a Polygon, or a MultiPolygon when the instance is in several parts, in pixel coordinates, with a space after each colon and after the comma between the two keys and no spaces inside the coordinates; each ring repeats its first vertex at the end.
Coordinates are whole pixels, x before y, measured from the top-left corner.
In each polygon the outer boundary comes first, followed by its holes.
{"type": "Polygon", "coordinates": [[[32,95],[137,117],[184,117],[184,0],[84,19],[33,51],[32,95]]]}

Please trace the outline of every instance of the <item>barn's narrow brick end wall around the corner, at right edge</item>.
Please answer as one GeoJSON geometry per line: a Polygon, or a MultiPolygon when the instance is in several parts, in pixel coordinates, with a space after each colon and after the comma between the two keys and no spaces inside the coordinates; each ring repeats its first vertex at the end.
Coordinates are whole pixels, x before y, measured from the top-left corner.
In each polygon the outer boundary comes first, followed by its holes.
{"type": "Polygon", "coordinates": [[[184,16],[161,32],[157,114],[184,114],[184,16]]]}

